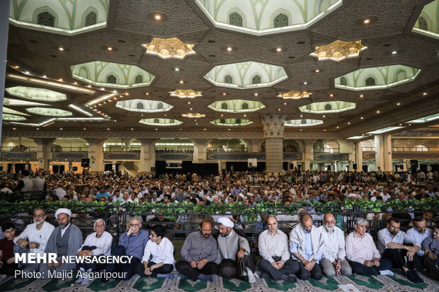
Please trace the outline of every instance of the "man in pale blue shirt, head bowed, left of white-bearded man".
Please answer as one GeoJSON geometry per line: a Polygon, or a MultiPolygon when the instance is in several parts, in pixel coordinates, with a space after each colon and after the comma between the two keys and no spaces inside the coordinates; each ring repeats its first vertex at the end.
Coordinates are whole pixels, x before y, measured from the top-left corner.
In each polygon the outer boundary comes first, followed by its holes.
{"type": "MultiPolygon", "coordinates": [[[[298,276],[307,280],[319,280],[323,276],[319,265],[324,243],[319,228],[313,225],[310,215],[300,216],[300,224],[290,233],[290,252],[292,259],[299,264],[298,276]]],[[[297,273],[296,273],[297,274],[297,273]]]]}

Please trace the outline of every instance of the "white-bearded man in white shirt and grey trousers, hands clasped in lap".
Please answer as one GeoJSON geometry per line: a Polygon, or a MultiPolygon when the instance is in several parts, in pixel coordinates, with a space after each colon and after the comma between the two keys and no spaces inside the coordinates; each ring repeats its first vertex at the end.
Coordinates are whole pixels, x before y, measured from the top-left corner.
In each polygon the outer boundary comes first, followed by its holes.
{"type": "Polygon", "coordinates": [[[336,226],[336,218],[332,214],[325,214],[323,225],[319,227],[319,230],[324,242],[320,266],[326,276],[352,274],[352,269],[346,259],[345,236],[343,231],[336,226]]]}

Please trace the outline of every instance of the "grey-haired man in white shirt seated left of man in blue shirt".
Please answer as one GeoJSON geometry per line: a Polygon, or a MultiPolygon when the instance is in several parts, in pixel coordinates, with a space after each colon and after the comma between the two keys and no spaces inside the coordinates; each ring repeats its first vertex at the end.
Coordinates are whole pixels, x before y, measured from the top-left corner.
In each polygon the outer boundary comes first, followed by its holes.
{"type": "MultiPolygon", "coordinates": [[[[78,251],[80,257],[93,256],[93,257],[105,257],[111,254],[111,244],[113,243],[113,236],[106,231],[106,221],[99,218],[94,222],[93,229],[95,232],[87,236],[84,244],[78,251]]],[[[85,262],[78,264],[79,273],[78,280],[76,284],[87,285],[90,283],[91,279],[89,276],[82,276],[84,271],[87,274],[91,271],[101,271],[105,269],[107,264],[87,264],[85,262]]]]}

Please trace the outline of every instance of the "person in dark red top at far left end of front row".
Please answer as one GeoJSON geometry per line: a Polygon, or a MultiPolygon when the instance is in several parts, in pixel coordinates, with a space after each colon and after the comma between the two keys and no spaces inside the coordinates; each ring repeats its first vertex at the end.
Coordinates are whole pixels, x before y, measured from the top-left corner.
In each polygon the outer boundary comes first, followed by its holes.
{"type": "Polygon", "coordinates": [[[16,226],[12,222],[7,222],[1,226],[4,238],[0,240],[0,281],[6,276],[13,276],[18,264],[15,263],[13,254],[13,238],[16,237],[16,226]]]}

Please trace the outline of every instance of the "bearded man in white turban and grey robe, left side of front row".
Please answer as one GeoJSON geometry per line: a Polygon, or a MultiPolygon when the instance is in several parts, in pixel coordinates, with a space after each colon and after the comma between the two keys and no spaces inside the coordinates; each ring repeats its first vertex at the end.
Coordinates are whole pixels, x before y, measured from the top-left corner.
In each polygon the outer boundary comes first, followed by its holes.
{"type": "Polygon", "coordinates": [[[63,263],[62,256],[76,256],[82,245],[81,230],[70,223],[72,211],[61,208],[55,212],[55,218],[58,219],[59,226],[52,231],[45,253],[57,254],[57,262],[47,262],[40,264],[41,279],[47,279],[49,269],[56,269],[58,273],[67,273],[76,268],[76,263],[63,263]]]}

